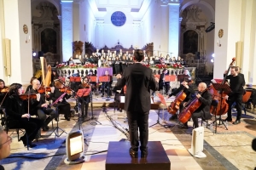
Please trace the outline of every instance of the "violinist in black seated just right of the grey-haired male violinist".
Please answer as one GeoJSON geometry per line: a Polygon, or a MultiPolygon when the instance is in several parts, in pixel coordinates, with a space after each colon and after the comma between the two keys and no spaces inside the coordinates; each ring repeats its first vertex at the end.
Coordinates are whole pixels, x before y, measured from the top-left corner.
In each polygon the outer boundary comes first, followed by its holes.
{"type": "Polygon", "coordinates": [[[65,119],[67,121],[70,121],[70,116],[71,116],[71,106],[70,104],[66,101],[66,99],[69,99],[71,97],[71,90],[66,88],[63,84],[63,82],[60,79],[55,80],[55,88],[53,88],[51,94],[49,94],[49,99],[52,99],[54,102],[56,99],[58,99],[59,97],[61,97],[62,94],[64,93],[68,93],[66,94],[63,99],[61,99],[58,104],[58,110],[59,110],[59,114],[62,113],[65,116],[65,119]]]}

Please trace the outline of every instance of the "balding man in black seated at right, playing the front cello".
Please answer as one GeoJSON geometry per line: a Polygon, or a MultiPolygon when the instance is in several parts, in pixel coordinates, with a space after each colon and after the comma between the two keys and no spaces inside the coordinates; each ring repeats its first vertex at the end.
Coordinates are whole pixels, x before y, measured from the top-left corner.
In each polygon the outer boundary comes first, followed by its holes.
{"type": "MultiPolygon", "coordinates": [[[[201,105],[192,113],[192,120],[194,122],[194,127],[199,127],[198,118],[201,117],[202,120],[208,120],[211,118],[210,106],[212,104],[212,94],[207,90],[207,84],[205,82],[199,83],[198,94],[196,98],[201,101],[201,105]]],[[[192,106],[192,105],[191,105],[192,106]]],[[[188,128],[188,122],[183,125],[178,126],[179,128],[188,128]]]]}

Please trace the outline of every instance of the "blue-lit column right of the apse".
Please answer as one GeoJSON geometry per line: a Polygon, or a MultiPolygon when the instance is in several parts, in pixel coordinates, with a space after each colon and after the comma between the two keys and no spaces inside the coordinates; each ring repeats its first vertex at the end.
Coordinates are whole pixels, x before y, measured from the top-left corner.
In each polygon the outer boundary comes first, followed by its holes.
{"type": "Polygon", "coordinates": [[[179,43],[179,3],[169,3],[169,52],[177,58],[179,43]]]}

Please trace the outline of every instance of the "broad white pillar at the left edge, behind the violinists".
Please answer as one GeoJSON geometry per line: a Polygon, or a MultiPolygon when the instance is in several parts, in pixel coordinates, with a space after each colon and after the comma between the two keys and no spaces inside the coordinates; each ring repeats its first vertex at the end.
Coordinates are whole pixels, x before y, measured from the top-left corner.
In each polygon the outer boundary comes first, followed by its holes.
{"type": "Polygon", "coordinates": [[[6,83],[29,84],[32,77],[31,0],[3,0],[3,8],[4,37],[10,39],[11,54],[11,74],[6,83]],[[23,31],[24,25],[27,33],[23,31]]]}

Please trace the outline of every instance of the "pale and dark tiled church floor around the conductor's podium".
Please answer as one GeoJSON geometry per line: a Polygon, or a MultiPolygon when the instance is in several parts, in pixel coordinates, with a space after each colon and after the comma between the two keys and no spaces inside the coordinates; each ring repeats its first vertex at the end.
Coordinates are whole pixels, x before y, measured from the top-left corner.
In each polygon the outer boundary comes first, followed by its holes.
{"type": "MultiPolygon", "coordinates": [[[[212,130],[205,128],[203,152],[207,155],[206,158],[195,158],[189,154],[192,122],[189,122],[189,129],[174,127],[177,122],[168,121],[170,114],[167,111],[164,114],[160,111],[160,124],[167,123],[172,126],[165,128],[156,124],[149,127],[149,141],[161,141],[171,161],[171,169],[253,169],[256,167],[256,152],[253,151],[251,143],[256,137],[256,115],[253,110],[251,112],[247,112],[247,116],[242,116],[242,122],[239,125],[232,125],[229,122],[228,130],[223,125],[218,127],[218,133],[212,133],[212,130]]],[[[89,144],[89,146],[85,145],[84,163],[66,165],[64,163],[66,158],[64,141],[67,134],[63,133],[61,137],[56,138],[54,143],[55,134],[50,134],[49,131],[42,133],[44,138],[38,139],[38,146],[31,150],[26,150],[13,135],[12,154],[9,158],[0,161],[0,164],[5,169],[105,169],[108,142],[127,139],[125,134],[128,126],[124,122],[124,111],[114,112],[113,108],[107,107],[107,114],[102,111],[102,108],[94,108],[93,113],[98,122],[90,120],[81,125],[84,138],[89,144]],[[113,125],[119,127],[120,130],[113,125]]],[[[158,111],[150,111],[149,125],[157,121],[157,113],[158,111]]],[[[234,113],[233,116],[236,114],[234,113]]],[[[74,119],[77,119],[77,116],[73,117],[70,122],[61,120],[59,126],[67,133],[78,130],[79,124],[74,119]]]]}

